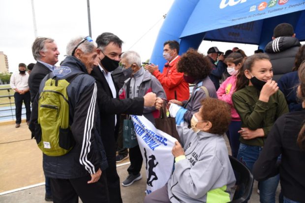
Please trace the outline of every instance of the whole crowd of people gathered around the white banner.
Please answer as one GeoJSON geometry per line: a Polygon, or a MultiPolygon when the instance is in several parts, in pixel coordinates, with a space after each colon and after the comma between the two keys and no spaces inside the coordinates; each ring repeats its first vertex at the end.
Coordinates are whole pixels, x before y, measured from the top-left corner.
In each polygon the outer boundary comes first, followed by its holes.
{"type": "Polygon", "coordinates": [[[122,181],[127,187],[142,178],[143,162],[138,145],[127,149],[122,144],[123,119],[143,115],[154,124],[166,102],[181,143],[172,149],[170,179],[144,202],[232,201],[229,189],[236,178],[224,135],[232,156],[259,181],[261,203],[275,203],[279,181],[280,202],[305,202],[305,46],[290,24],[276,26],[265,53],[256,50],[251,56],[237,47],[225,53],[211,47],[207,55],[189,49],[180,56],[179,43],[166,41],[162,72],[158,65],[143,64],[137,52],[122,53],[122,43],[110,32],[95,42],[90,36],[74,38],[67,44],[67,57],[55,66],[60,55],[56,42],[37,37],[32,44],[37,62],[28,65],[29,73],[20,63],[11,76],[16,127],[24,102],[32,137],[48,149],[50,143],[43,139],[51,131],[43,124],[41,108],[59,112],[60,107],[42,99],[53,83],[68,82],[69,127],[59,145],[68,138],[72,144],[61,156],[43,154],[46,201],[78,202],[80,197],[85,203],[122,203],[116,163],[130,159],[122,181]]]}

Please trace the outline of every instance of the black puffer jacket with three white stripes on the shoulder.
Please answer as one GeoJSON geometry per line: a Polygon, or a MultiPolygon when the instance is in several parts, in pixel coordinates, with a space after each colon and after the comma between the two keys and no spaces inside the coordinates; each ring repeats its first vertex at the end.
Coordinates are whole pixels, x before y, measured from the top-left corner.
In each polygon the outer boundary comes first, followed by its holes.
{"type": "Polygon", "coordinates": [[[294,60],[301,44],[295,37],[277,37],[266,45],[265,52],[273,67],[273,79],[292,71],[294,60]]]}

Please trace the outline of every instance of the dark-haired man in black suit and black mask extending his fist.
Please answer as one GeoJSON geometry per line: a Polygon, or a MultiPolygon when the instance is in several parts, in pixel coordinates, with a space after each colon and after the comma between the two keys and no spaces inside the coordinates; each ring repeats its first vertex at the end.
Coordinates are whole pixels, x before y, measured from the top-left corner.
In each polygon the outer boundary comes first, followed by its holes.
{"type": "Polygon", "coordinates": [[[113,33],[104,32],[97,37],[96,43],[98,66],[93,68],[91,76],[96,80],[101,136],[109,165],[106,170],[109,198],[111,203],[122,203],[120,178],[116,169],[117,114],[142,115],[144,106],[154,106],[156,95],[150,92],[144,97],[120,100],[111,72],[119,66],[122,40],[113,33]]]}

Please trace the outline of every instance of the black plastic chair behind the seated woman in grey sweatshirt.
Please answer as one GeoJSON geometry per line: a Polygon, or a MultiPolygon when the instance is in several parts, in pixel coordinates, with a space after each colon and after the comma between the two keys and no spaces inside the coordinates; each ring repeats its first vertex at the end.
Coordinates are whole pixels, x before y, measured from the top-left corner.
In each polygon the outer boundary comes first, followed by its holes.
{"type": "Polygon", "coordinates": [[[244,203],[249,200],[252,193],[253,175],[249,169],[236,158],[229,155],[229,159],[234,170],[237,185],[233,201],[230,203],[244,203]]]}

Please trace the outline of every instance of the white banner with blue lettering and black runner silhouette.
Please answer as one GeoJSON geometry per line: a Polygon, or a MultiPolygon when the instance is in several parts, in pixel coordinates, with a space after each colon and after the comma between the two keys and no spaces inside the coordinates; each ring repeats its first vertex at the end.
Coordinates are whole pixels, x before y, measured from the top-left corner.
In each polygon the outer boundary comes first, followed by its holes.
{"type": "Polygon", "coordinates": [[[177,140],[156,129],[146,117],[131,117],[145,162],[146,193],[150,194],[168,181],[174,165],[172,149],[177,140]]]}

